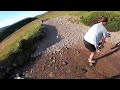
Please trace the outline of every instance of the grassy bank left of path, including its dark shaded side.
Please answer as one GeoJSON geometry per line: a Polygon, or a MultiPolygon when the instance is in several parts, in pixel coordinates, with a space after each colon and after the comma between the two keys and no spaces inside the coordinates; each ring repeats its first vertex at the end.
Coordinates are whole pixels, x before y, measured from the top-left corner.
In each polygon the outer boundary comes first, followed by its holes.
{"type": "Polygon", "coordinates": [[[16,69],[31,60],[36,50],[35,43],[41,39],[41,24],[38,20],[23,26],[0,44],[0,79],[9,78],[16,69]]]}

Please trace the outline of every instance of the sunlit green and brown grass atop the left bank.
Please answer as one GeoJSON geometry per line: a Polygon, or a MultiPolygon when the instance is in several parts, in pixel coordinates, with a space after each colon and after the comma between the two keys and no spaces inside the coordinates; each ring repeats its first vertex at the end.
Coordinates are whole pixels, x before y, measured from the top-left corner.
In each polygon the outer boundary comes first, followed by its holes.
{"type": "Polygon", "coordinates": [[[4,60],[9,57],[12,53],[16,52],[20,46],[21,40],[28,40],[31,36],[39,32],[41,25],[37,21],[33,21],[20,30],[14,32],[7,40],[0,46],[0,60],[4,60]]]}

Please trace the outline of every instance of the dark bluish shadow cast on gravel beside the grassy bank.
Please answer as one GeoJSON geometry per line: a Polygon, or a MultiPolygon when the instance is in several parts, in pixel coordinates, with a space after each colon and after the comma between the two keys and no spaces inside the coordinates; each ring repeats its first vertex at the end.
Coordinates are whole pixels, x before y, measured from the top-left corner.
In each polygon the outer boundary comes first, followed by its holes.
{"type": "Polygon", "coordinates": [[[45,38],[39,42],[36,53],[42,53],[50,46],[59,42],[62,38],[58,35],[57,29],[54,26],[43,24],[45,38]]]}

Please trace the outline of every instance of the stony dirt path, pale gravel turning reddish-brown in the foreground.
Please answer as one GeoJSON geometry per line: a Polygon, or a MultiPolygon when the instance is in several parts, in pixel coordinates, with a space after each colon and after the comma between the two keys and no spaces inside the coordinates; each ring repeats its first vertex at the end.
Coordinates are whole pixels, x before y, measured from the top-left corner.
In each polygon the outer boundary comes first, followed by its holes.
{"type": "Polygon", "coordinates": [[[45,21],[46,38],[38,43],[32,57],[39,56],[30,67],[24,68],[24,76],[33,79],[104,79],[120,74],[120,33],[112,34],[106,48],[97,54],[97,64],[91,70],[87,58],[89,53],[83,46],[83,35],[89,27],[68,21],[72,16],[57,17],[45,21]]]}

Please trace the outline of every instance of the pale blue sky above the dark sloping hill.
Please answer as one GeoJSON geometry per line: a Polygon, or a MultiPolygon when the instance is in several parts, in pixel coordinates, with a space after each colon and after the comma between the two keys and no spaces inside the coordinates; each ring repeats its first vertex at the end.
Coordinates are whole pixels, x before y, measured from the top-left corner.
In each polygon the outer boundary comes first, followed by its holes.
{"type": "Polygon", "coordinates": [[[45,12],[47,11],[0,11],[0,28],[45,12]]]}

